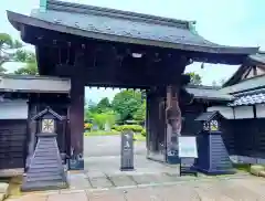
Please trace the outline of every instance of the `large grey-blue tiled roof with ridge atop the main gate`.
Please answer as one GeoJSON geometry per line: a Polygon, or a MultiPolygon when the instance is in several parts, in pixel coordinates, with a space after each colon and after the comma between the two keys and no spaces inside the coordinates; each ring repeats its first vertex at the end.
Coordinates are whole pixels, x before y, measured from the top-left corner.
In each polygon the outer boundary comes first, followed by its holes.
{"type": "Polygon", "coordinates": [[[194,22],[56,0],[47,0],[44,12],[36,9],[31,17],[8,12],[8,18],[17,29],[26,24],[97,40],[242,56],[258,51],[210,42],[197,34],[194,22]]]}

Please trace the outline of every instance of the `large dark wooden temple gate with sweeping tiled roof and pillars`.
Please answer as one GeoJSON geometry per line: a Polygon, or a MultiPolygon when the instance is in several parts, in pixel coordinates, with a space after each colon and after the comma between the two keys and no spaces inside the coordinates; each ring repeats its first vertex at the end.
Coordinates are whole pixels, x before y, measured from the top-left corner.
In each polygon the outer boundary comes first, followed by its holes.
{"type": "Polygon", "coordinates": [[[41,1],[31,15],[8,11],[21,39],[35,45],[40,75],[71,78],[68,108],[74,169],[83,169],[84,86],[147,91],[150,157],[174,162],[181,135],[180,105],[190,102],[183,75],[193,61],[242,64],[257,47],[204,40],[194,22],[56,0],[41,1]],[[155,154],[155,155],[152,155],[155,154]]]}

